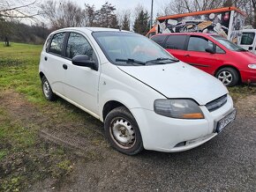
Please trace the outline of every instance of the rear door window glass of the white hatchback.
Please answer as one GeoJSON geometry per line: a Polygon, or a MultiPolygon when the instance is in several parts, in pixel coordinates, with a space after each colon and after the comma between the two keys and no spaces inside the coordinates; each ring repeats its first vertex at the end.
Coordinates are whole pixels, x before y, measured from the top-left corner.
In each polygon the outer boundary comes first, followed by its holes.
{"type": "Polygon", "coordinates": [[[62,49],[64,47],[64,37],[65,33],[56,33],[50,42],[49,52],[56,55],[62,55],[62,49]]]}

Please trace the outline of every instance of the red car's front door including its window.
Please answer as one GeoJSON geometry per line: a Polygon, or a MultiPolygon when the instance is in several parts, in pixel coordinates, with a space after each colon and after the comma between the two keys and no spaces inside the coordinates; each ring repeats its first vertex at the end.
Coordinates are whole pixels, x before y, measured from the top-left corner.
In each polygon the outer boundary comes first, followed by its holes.
{"type": "Polygon", "coordinates": [[[213,75],[218,61],[215,54],[208,53],[206,48],[211,48],[215,51],[215,43],[205,37],[191,35],[184,51],[183,61],[213,75]]]}

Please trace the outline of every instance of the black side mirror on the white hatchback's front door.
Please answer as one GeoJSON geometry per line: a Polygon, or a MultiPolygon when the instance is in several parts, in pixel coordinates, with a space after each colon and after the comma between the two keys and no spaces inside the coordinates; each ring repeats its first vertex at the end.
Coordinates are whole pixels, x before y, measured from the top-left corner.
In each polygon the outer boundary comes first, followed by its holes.
{"type": "Polygon", "coordinates": [[[88,55],[76,55],[72,58],[72,63],[77,66],[89,67],[92,70],[98,70],[98,65],[94,60],[90,60],[88,55]]]}

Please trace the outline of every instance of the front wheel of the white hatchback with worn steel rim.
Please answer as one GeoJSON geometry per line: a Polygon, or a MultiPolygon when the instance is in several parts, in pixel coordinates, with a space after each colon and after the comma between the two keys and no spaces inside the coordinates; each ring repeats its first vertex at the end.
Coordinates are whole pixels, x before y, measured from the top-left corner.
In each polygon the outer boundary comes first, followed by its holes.
{"type": "Polygon", "coordinates": [[[104,129],[109,143],[117,151],[136,155],[144,149],[139,126],[126,107],[110,111],[104,121],[104,129]]]}

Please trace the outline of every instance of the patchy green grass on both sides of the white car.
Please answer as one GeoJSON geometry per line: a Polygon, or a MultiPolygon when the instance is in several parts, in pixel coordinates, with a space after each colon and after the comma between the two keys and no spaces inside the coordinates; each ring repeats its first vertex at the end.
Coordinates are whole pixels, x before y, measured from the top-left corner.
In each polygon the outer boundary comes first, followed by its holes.
{"type": "MultiPolygon", "coordinates": [[[[49,103],[44,99],[38,75],[41,48],[41,45],[22,43],[4,47],[4,42],[0,42],[0,101],[4,92],[19,92],[27,103],[56,123],[95,121],[63,100],[49,103]]],[[[229,90],[235,101],[256,93],[255,86],[250,85],[229,90]]],[[[0,191],[24,190],[34,182],[61,179],[72,171],[72,153],[62,146],[41,141],[39,129],[39,124],[13,119],[10,111],[0,105],[0,191]]]]}

